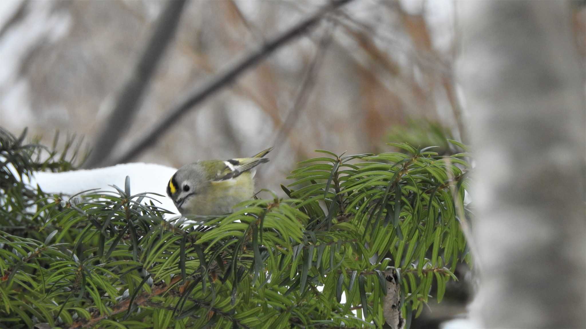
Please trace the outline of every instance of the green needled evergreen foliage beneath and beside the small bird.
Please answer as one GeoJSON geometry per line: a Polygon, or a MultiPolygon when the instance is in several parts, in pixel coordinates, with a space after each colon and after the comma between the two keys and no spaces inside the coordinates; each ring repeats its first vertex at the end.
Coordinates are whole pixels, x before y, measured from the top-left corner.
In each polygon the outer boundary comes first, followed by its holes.
{"type": "Polygon", "coordinates": [[[28,148],[6,156],[18,139],[2,135],[0,327],[381,327],[387,266],[411,317],[430,293],[441,300],[465,252],[450,190],[459,204],[468,189],[459,155],[319,150],[282,186],[289,198],[182,222],[128,181],[46,196],[15,174],[32,170],[28,148]]]}

